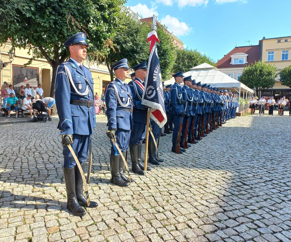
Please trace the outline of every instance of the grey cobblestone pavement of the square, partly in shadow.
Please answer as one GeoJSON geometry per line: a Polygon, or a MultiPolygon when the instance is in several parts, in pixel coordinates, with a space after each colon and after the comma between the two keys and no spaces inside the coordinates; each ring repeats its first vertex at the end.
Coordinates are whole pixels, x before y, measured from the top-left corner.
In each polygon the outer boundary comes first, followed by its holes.
{"type": "Polygon", "coordinates": [[[0,241],[291,241],[290,120],[237,117],[182,155],[167,135],[165,162],[120,188],[100,115],[89,185],[99,206],[82,218],[66,210],[58,121],[1,125],[0,241]]]}

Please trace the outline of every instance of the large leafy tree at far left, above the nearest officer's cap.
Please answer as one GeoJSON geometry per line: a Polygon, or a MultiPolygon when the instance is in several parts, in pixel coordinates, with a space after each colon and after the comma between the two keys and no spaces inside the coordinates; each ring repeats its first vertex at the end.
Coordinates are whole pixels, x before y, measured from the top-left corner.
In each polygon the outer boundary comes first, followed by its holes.
{"type": "Polygon", "coordinates": [[[69,55],[64,42],[77,32],[88,38],[88,51],[100,51],[116,34],[124,0],[2,0],[0,43],[8,39],[17,48],[33,48],[35,58],[45,58],[52,67],[50,96],[54,97],[57,67],[69,55]]]}

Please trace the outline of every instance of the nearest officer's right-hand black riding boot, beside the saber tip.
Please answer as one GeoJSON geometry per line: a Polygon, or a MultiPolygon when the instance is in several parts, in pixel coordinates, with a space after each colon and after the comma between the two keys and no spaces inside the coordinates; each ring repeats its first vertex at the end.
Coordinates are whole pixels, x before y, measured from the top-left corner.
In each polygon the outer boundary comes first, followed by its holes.
{"type": "MultiPolygon", "coordinates": [[[[81,163],[80,165],[84,172],[85,162],[81,163]]],[[[87,199],[85,198],[84,192],[83,192],[83,180],[82,180],[82,176],[81,176],[78,166],[75,166],[75,182],[76,182],[76,197],[77,197],[78,203],[83,207],[96,208],[98,206],[98,203],[96,202],[90,201],[90,205],[89,206],[87,205],[87,199]]]]}

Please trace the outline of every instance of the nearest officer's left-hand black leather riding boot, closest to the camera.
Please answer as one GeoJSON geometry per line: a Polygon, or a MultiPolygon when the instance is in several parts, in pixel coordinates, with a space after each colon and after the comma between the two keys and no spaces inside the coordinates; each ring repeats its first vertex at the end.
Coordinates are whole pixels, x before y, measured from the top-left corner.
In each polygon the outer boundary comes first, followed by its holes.
{"type": "Polygon", "coordinates": [[[84,216],[85,210],[79,205],[76,198],[75,167],[64,167],[64,178],[67,191],[67,209],[74,215],[84,216]]]}

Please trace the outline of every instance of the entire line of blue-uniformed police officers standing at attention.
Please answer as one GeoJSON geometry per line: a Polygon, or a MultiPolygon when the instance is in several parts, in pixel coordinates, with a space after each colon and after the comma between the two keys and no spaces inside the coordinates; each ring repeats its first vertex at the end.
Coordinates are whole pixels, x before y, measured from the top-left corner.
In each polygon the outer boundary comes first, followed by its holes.
{"type": "MultiPolygon", "coordinates": [[[[70,51],[70,59],[59,65],[55,80],[56,106],[59,115],[60,135],[64,155],[64,179],[67,192],[67,208],[78,216],[85,215],[82,207],[95,208],[96,202],[89,200],[85,181],[85,159],[89,151],[87,183],[90,180],[92,143],[91,137],[96,126],[94,111],[93,79],[82,61],[86,58],[88,44],[86,35],[78,33],[66,40],[64,45],[70,51]],[[85,196],[83,193],[85,187],[85,196]]],[[[144,158],[141,156],[145,141],[148,107],[141,104],[145,89],[147,64],[142,62],[133,67],[129,84],[127,59],[112,65],[116,78],[105,90],[107,107],[106,135],[111,142],[111,182],[118,186],[129,186],[133,179],[126,163],[128,150],[131,156],[131,171],[144,175],[144,158]],[[125,176],[125,168],[128,177],[125,176]]],[[[219,90],[184,77],[182,71],[173,75],[175,83],[167,85],[164,92],[167,123],[164,132],[172,132],[172,151],[185,152],[209,132],[235,118],[238,107],[236,94],[230,90],[219,90]],[[184,82],[184,86],[180,84],[184,82]]],[[[150,120],[151,135],[148,141],[148,162],[160,165],[158,156],[161,128],[150,120]]],[[[147,167],[147,171],[151,168],[147,167]]]]}

